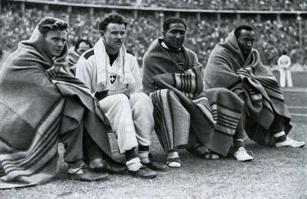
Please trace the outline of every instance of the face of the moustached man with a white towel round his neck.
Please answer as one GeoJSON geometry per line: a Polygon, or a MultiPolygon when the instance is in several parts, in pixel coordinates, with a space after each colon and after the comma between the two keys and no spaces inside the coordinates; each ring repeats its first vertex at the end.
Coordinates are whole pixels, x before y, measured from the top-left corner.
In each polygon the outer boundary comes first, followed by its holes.
{"type": "Polygon", "coordinates": [[[106,26],[105,32],[100,31],[104,44],[106,47],[112,49],[119,49],[124,42],[124,35],[126,33],[124,24],[109,23],[106,26]]]}

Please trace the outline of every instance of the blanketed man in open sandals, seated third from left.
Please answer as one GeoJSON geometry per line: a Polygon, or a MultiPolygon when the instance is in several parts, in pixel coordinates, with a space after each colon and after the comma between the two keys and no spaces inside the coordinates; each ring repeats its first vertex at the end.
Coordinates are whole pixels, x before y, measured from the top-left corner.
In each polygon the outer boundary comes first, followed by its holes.
{"type": "Polygon", "coordinates": [[[144,91],[151,97],[155,131],[167,152],[167,165],[180,167],[178,149],[206,160],[217,160],[208,148],[227,155],[243,105],[226,89],[203,92],[201,65],[183,45],[186,25],[177,17],[163,25],[163,38],[143,58],[144,91]]]}

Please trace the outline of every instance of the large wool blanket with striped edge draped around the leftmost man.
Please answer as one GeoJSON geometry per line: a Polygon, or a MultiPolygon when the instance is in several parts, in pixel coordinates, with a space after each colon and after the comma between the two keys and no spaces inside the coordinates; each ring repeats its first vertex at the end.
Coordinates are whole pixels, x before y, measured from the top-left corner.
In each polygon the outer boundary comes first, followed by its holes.
{"type": "MultiPolygon", "coordinates": [[[[4,63],[1,72],[0,188],[46,183],[57,171],[59,136],[84,128],[109,157],[107,118],[90,91],[71,73],[53,66],[37,27],[4,63]],[[76,103],[78,102],[78,103],[76,103]],[[97,133],[99,132],[99,133],[97,133]]],[[[60,57],[67,55],[67,45],[60,57]]]]}

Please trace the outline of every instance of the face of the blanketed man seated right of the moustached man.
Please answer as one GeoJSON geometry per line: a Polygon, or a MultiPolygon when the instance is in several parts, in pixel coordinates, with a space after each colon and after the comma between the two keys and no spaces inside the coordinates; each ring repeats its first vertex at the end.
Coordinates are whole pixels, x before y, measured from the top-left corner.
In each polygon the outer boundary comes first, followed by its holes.
{"type": "Polygon", "coordinates": [[[172,23],[169,25],[168,31],[163,31],[165,44],[178,51],[185,39],[185,27],[182,23],[172,23]]]}

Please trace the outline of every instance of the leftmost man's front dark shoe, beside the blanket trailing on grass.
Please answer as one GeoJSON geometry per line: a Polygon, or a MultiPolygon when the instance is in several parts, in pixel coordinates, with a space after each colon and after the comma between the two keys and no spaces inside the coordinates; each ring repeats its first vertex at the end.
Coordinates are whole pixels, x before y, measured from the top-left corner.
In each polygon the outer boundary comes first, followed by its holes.
{"type": "Polygon", "coordinates": [[[108,179],[108,173],[95,173],[91,171],[91,168],[85,164],[81,164],[78,167],[69,166],[68,179],[79,180],[84,182],[103,181],[108,179]]]}

